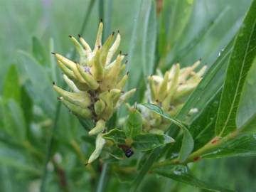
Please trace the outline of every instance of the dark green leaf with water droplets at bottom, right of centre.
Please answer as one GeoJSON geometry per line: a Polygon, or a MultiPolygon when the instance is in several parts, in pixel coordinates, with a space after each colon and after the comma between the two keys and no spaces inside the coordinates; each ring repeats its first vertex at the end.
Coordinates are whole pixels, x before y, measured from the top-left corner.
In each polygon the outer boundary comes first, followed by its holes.
{"type": "Polygon", "coordinates": [[[207,191],[232,191],[229,189],[218,187],[212,182],[201,181],[200,179],[193,176],[193,174],[191,174],[191,171],[189,171],[187,166],[168,166],[161,169],[156,169],[155,172],[161,176],[171,178],[174,181],[186,183],[190,186],[195,186],[197,188],[206,189],[207,191]]]}

